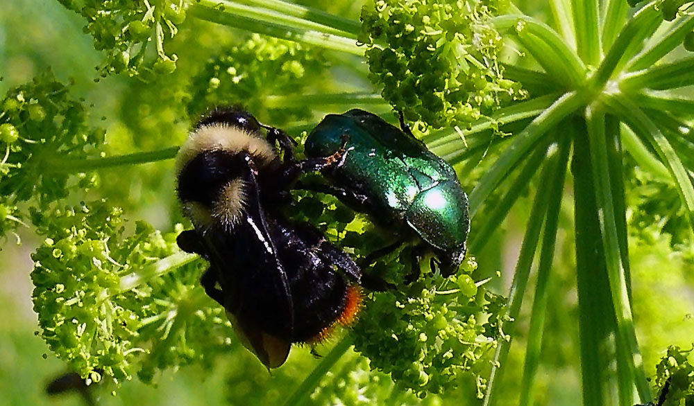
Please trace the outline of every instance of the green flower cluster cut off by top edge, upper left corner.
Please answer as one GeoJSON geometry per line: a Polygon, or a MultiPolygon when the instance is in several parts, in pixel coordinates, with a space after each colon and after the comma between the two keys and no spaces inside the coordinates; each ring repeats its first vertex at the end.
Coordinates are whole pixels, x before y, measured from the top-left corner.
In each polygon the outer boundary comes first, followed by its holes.
{"type": "Polygon", "coordinates": [[[183,0],[58,0],[87,20],[84,30],[94,37],[94,48],[106,52],[97,69],[102,77],[128,71],[130,74],[154,69],[171,73],[177,56],[164,51],[166,37],[178,33],[185,21],[183,0]],[[147,48],[154,42],[158,58],[149,60],[147,48]]]}

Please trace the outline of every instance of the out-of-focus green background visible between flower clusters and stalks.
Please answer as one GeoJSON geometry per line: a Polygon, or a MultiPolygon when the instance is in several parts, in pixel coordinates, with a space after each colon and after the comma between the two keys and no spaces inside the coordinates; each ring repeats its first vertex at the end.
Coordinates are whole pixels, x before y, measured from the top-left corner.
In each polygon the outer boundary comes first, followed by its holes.
{"type": "MultiPolygon", "coordinates": [[[[359,15],[359,2],[311,3],[353,19],[359,15]]],[[[518,3],[525,10],[535,9],[534,15],[548,15],[543,2],[527,0],[518,3]]],[[[110,154],[178,145],[189,124],[176,103],[162,103],[167,97],[175,99],[176,78],[168,83],[143,83],[137,78],[114,76],[94,82],[98,77],[94,67],[99,64],[101,55],[94,50],[92,38],[83,33],[82,26],[83,21],[62,8],[58,1],[4,1],[0,10],[0,76],[3,77],[0,94],[51,68],[60,80],[74,80],[75,94],[93,106],[94,123],[107,129],[110,154]]],[[[174,44],[180,54],[180,75],[202,69],[207,58],[219,51],[223,44],[241,37],[239,33],[212,24],[196,27],[196,35],[199,37],[195,46],[187,47],[185,35],[174,44]]],[[[363,67],[357,67],[359,69],[363,67]]],[[[361,73],[350,73],[349,69],[337,67],[334,74],[350,81],[353,89],[370,89],[361,73]]],[[[314,116],[319,118],[327,112],[331,112],[329,106],[318,107],[314,116]]],[[[109,171],[101,173],[101,177],[99,193],[108,196],[110,204],[123,206],[127,218],[148,220],[162,230],[170,230],[174,222],[180,220],[174,201],[171,161],[109,171]]],[[[463,179],[466,187],[471,188],[474,178],[475,175],[463,179]]],[[[639,193],[645,192],[634,187],[628,193],[632,200],[638,200],[639,193]]],[[[496,241],[488,244],[477,257],[480,263],[478,276],[493,276],[501,272],[501,278],[494,281],[494,288],[504,294],[510,284],[528,211],[527,199],[521,199],[497,233],[496,241]]],[[[566,225],[572,219],[572,208],[564,207],[561,222],[566,225]]],[[[53,398],[45,393],[48,382],[66,370],[62,362],[51,355],[42,339],[35,335],[37,324],[31,308],[29,273],[33,266],[30,254],[40,237],[27,229],[20,231],[19,237],[22,245],[15,244],[15,240],[10,238],[2,242],[0,251],[0,405],[80,404],[82,400],[78,394],[53,398]]],[[[556,276],[553,276],[552,283],[556,286],[552,289],[554,297],[550,298],[552,306],[548,309],[545,327],[547,339],[543,344],[545,358],[539,372],[538,405],[568,406],[580,401],[573,238],[573,235],[560,233],[557,245],[557,264],[561,268],[553,273],[556,276]]],[[[694,305],[694,254],[686,250],[674,251],[668,235],[657,228],[638,231],[631,239],[629,249],[633,258],[637,333],[645,364],[652,374],[654,364],[668,345],[690,348],[694,340],[694,324],[690,320],[694,305]]],[[[529,285],[532,286],[533,281],[529,285]]],[[[526,301],[525,307],[530,303],[526,301]]],[[[505,382],[509,399],[514,398],[516,385],[520,385],[520,374],[512,371],[522,369],[527,319],[528,311],[525,309],[518,321],[520,327],[517,331],[521,337],[511,347],[509,358],[511,365],[505,382]]],[[[330,343],[320,351],[327,352],[329,347],[330,343]]],[[[273,405],[289,396],[315,364],[316,360],[307,348],[299,348],[292,351],[285,367],[270,375],[253,355],[237,346],[228,356],[217,360],[214,371],[196,368],[170,371],[158,380],[156,387],[134,380],[124,382],[117,396],[110,394],[112,388],[101,387],[94,388],[94,395],[99,405],[273,405]]],[[[391,385],[389,378],[379,373],[349,376],[349,383],[345,383],[341,372],[358,372],[363,368],[364,361],[350,354],[324,378],[321,390],[338,393],[346,390],[345,385],[361,385],[359,387],[366,393],[375,390],[369,389],[370,385],[391,385]]],[[[420,402],[446,405],[469,396],[468,391],[469,388],[460,388],[459,394],[450,394],[443,399],[430,396],[420,401],[403,395],[388,401],[393,405],[420,402]]],[[[330,399],[330,396],[324,396],[316,402],[339,404],[330,399]]],[[[362,401],[369,404],[369,397],[365,396],[362,401]]]]}

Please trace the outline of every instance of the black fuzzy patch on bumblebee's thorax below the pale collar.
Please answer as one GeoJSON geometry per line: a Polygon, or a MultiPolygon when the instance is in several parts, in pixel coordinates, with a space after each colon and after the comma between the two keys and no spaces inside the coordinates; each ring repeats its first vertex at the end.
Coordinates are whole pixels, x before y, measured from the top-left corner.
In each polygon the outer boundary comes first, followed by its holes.
{"type": "Polygon", "coordinates": [[[219,193],[241,175],[244,162],[225,151],[204,151],[191,159],[178,176],[178,198],[212,206],[219,193]]]}

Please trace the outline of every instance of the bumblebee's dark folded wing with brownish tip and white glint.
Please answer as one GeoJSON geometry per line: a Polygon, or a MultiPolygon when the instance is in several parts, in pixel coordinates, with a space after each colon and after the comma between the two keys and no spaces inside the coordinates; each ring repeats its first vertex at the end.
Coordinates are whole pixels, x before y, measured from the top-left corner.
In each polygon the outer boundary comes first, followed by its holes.
{"type": "Polygon", "coordinates": [[[242,179],[244,216],[232,229],[206,231],[203,251],[218,275],[224,308],[239,338],[266,367],[275,368],[289,354],[294,305],[252,166],[244,168],[242,179]]]}

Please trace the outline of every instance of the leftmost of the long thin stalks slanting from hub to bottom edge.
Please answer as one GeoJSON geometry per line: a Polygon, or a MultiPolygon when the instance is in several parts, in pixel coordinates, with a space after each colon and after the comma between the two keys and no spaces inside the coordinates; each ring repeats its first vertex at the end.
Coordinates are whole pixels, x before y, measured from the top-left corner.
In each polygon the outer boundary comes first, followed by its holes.
{"type": "MultiPolygon", "coordinates": [[[[557,160],[559,159],[557,148],[550,147],[550,150],[552,151],[552,155],[545,160],[545,166],[540,175],[543,182],[540,182],[537,193],[535,194],[532,211],[530,211],[530,218],[528,219],[525,235],[523,236],[521,254],[518,256],[518,263],[516,263],[514,281],[511,283],[511,291],[509,292],[508,315],[511,319],[516,321],[521,312],[523,295],[525,294],[527,281],[530,278],[532,260],[535,256],[537,243],[540,239],[542,223],[547,213],[547,206],[550,200],[550,193],[548,191],[550,182],[544,182],[544,179],[550,179],[552,173],[557,169],[557,160]]],[[[502,373],[511,346],[511,338],[513,337],[512,330],[513,325],[507,328],[509,339],[502,340],[496,347],[491,373],[489,374],[489,382],[487,383],[487,390],[484,396],[484,403],[482,404],[483,406],[495,404],[496,396],[498,396],[498,389],[496,389],[498,387],[497,382],[502,379],[502,373]]]]}

